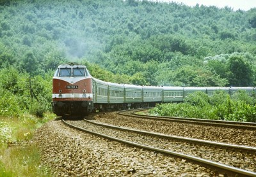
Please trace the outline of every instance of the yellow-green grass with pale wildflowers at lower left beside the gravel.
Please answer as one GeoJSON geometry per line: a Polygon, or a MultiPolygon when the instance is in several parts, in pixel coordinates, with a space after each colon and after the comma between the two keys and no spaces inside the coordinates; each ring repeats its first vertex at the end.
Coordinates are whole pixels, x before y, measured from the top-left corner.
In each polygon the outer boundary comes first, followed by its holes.
{"type": "Polygon", "coordinates": [[[29,140],[53,118],[52,114],[0,117],[0,176],[51,176],[49,167],[41,164],[40,148],[29,140]]]}

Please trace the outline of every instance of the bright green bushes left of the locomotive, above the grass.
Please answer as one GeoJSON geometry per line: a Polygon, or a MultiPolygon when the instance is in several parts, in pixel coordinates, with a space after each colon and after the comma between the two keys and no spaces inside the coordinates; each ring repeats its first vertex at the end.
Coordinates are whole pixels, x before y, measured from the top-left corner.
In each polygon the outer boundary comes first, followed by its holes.
{"type": "Polygon", "coordinates": [[[52,73],[31,78],[10,66],[1,69],[0,76],[0,115],[17,117],[28,112],[43,117],[51,110],[52,73]]]}

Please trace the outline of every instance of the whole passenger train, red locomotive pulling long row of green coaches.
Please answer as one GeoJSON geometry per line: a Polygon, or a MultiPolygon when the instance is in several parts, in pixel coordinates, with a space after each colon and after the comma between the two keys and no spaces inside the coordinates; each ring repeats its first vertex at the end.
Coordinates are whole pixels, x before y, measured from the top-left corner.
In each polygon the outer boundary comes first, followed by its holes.
{"type": "Polygon", "coordinates": [[[52,79],[52,110],[58,116],[88,115],[93,111],[145,108],[157,103],[179,103],[189,94],[202,91],[211,96],[216,90],[233,94],[254,87],[157,87],[118,84],[93,78],[86,66],[61,64],[52,79]]]}

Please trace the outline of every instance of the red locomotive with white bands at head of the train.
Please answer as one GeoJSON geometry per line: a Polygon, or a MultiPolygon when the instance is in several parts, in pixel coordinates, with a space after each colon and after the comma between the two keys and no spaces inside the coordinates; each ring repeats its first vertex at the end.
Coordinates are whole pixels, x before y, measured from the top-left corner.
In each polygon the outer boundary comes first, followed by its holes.
{"type": "Polygon", "coordinates": [[[52,79],[52,110],[58,116],[88,115],[93,110],[92,76],[86,66],[58,66],[52,79]]]}

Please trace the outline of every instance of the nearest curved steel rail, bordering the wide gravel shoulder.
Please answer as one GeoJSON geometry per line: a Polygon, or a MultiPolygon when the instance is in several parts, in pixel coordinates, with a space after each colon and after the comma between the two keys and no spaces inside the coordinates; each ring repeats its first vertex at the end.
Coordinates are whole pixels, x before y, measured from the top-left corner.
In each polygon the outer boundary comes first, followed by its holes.
{"type": "Polygon", "coordinates": [[[138,143],[133,143],[131,141],[125,141],[124,139],[114,138],[114,137],[108,136],[106,134],[100,134],[98,132],[88,131],[88,130],[83,129],[81,127],[77,127],[75,125],[68,124],[67,122],[65,122],[65,120],[62,120],[62,122],[64,124],[68,125],[69,127],[72,127],[72,128],[77,129],[79,131],[88,132],[90,134],[94,134],[94,135],[97,135],[97,136],[100,136],[100,137],[103,137],[103,138],[111,139],[111,140],[114,140],[114,141],[125,143],[127,145],[132,145],[132,146],[136,146],[136,147],[139,147],[139,148],[143,148],[143,149],[146,149],[146,150],[152,150],[152,151],[159,152],[159,153],[164,153],[164,154],[167,154],[167,155],[173,155],[175,157],[180,157],[180,158],[183,158],[183,159],[192,160],[194,162],[204,164],[205,166],[216,167],[216,168],[224,170],[224,171],[226,171],[227,173],[230,173],[230,174],[239,174],[241,176],[256,176],[256,173],[253,173],[251,171],[246,171],[244,169],[239,169],[239,168],[236,168],[236,167],[227,166],[227,165],[224,165],[224,164],[220,164],[218,162],[212,162],[211,160],[205,160],[205,159],[201,159],[201,158],[198,158],[198,157],[193,157],[191,155],[185,155],[185,154],[182,154],[182,153],[172,152],[170,150],[163,150],[163,149],[160,149],[160,148],[154,148],[152,146],[146,146],[146,145],[141,145],[141,144],[138,144],[138,143]]]}

